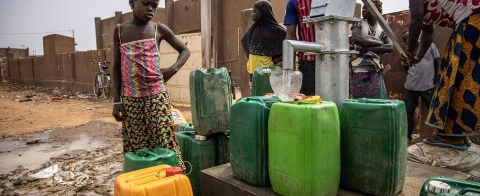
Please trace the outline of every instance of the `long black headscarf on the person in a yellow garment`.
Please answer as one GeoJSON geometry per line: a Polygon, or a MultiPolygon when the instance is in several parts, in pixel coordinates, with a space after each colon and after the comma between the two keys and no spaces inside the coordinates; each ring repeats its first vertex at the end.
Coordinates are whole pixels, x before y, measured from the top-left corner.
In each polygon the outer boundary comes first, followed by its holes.
{"type": "Polygon", "coordinates": [[[278,25],[273,17],[272,5],[267,0],[259,0],[253,7],[262,13],[262,19],[254,23],[241,38],[243,49],[260,56],[282,54],[282,44],[287,31],[278,25]]]}

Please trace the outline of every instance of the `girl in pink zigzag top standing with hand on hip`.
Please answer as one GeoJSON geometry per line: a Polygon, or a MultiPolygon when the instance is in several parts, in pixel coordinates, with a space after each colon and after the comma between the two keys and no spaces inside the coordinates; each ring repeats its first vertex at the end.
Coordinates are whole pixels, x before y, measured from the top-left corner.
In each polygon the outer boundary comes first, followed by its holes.
{"type": "Polygon", "coordinates": [[[190,50],[163,24],[153,23],[159,0],[129,0],[133,20],[114,33],[113,116],[122,122],[123,152],[164,147],[183,165],[173,128],[171,102],[164,83],[185,64],[190,50]],[[169,68],[160,69],[158,46],[167,41],[179,53],[169,68]]]}

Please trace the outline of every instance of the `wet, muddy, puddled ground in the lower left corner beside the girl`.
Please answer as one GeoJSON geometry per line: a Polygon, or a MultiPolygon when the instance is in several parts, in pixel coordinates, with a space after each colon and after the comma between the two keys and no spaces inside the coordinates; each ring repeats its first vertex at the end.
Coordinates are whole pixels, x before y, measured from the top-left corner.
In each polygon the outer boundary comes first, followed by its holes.
{"type": "Polygon", "coordinates": [[[114,123],[90,122],[1,138],[0,195],[111,196],[122,160],[120,127],[114,123]],[[73,165],[74,172],[90,178],[78,186],[56,185],[53,179],[23,180],[54,164],[62,171],[73,165]]]}

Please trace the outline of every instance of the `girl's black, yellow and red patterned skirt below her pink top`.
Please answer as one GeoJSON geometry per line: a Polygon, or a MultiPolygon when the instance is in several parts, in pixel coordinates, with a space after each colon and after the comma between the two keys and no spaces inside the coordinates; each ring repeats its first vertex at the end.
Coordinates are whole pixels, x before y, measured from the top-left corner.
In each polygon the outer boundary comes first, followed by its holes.
{"type": "Polygon", "coordinates": [[[185,170],[173,126],[168,93],[147,97],[123,97],[125,119],[122,123],[123,152],[163,147],[173,150],[185,170]]]}

